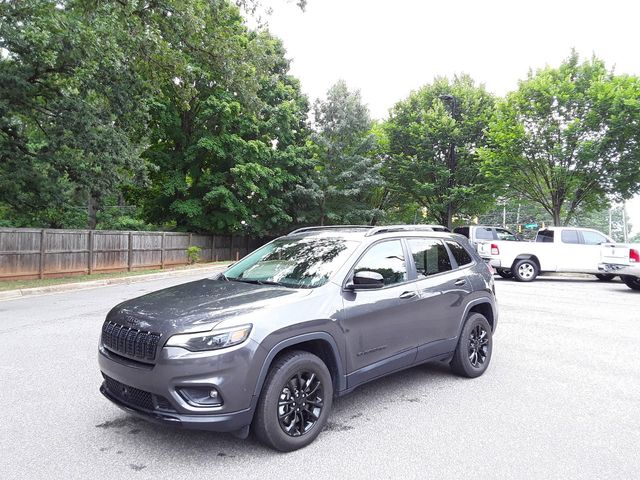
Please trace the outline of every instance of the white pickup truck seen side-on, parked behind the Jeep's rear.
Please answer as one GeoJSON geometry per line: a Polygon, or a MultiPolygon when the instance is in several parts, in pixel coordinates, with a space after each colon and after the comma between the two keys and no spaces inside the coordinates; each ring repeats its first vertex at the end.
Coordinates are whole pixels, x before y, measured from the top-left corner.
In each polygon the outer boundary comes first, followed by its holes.
{"type": "Polygon", "coordinates": [[[598,270],[601,245],[612,243],[591,228],[548,227],[533,242],[478,242],[478,253],[504,277],[531,282],[541,272],[591,273],[600,280],[616,274],[598,270]]]}

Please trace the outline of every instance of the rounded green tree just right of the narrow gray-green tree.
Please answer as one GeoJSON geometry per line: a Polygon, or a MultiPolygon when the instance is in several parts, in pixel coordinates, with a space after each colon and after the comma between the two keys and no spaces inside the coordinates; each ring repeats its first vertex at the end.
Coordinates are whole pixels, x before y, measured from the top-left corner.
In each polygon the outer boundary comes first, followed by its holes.
{"type": "Polygon", "coordinates": [[[411,205],[403,215],[414,216],[426,207],[428,219],[450,227],[454,215],[475,215],[491,203],[478,148],[494,103],[483,86],[462,75],[436,78],[393,107],[383,171],[398,212],[411,205]]]}

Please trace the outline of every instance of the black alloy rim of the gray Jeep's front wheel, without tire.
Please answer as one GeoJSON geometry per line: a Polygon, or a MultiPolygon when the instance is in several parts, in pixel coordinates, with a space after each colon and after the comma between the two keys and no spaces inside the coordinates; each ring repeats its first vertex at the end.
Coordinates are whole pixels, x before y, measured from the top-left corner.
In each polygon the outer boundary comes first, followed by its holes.
{"type": "Polygon", "coordinates": [[[324,389],[320,377],[298,372],[287,381],[278,401],[278,422],[287,435],[299,437],[318,422],[324,407],[324,389]]]}

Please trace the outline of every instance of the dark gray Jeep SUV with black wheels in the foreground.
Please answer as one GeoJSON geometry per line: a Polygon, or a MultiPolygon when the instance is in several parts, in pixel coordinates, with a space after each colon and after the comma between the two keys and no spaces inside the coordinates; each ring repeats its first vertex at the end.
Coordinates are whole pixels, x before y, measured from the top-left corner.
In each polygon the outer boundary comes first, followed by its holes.
{"type": "Polygon", "coordinates": [[[412,226],[311,227],[223,273],[114,307],[100,390],[127,412],[188,428],[249,428],[291,451],[335,396],[428,361],[489,365],[493,276],[459,235],[412,226]]]}

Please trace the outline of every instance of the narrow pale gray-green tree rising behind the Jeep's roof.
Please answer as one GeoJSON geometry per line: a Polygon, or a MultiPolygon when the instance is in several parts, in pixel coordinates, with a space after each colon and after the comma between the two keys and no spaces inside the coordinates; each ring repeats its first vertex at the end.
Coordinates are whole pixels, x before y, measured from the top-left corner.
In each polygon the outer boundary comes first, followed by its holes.
{"type": "Polygon", "coordinates": [[[311,223],[375,222],[376,189],[383,184],[376,158],[378,137],[359,91],[340,80],[314,105],[315,171],[309,186],[311,223]]]}

